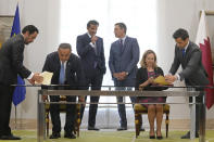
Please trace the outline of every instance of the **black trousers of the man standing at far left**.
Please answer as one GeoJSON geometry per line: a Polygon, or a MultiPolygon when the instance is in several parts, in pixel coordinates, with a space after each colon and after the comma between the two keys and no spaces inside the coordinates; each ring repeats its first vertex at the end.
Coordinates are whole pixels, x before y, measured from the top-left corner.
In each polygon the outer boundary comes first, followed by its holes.
{"type": "Polygon", "coordinates": [[[0,85],[0,135],[10,135],[11,105],[14,87],[0,85]]]}

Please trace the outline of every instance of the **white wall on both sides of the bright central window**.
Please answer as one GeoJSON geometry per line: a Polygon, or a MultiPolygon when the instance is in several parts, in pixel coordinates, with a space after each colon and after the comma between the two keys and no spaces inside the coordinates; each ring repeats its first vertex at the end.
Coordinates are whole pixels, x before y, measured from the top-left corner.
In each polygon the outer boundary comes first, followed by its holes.
{"type": "MultiPolygon", "coordinates": [[[[15,12],[15,7],[16,0],[1,0],[0,14],[13,15],[15,12]]],[[[174,56],[173,53],[175,42],[172,38],[172,34],[177,28],[184,27],[189,30],[190,39],[194,41],[199,22],[199,10],[204,8],[214,10],[214,1],[158,0],[158,62],[159,65],[165,70],[165,74],[169,69],[174,56]]],[[[35,42],[26,47],[25,50],[25,65],[33,72],[40,72],[46,55],[55,50],[59,44],[60,1],[20,0],[20,12],[22,27],[27,24],[34,24],[40,30],[35,42]]],[[[210,24],[210,26],[212,25],[210,24]]],[[[213,39],[213,34],[211,38],[213,39]]],[[[27,89],[26,100],[17,107],[18,118],[36,118],[37,89],[27,89]]],[[[168,99],[168,101],[171,102],[175,100],[168,99]]],[[[179,101],[187,100],[179,98],[179,101]]],[[[171,117],[173,118],[189,117],[188,105],[173,105],[172,109],[173,111],[171,117]],[[180,109],[187,111],[181,112],[180,109]],[[178,114],[175,112],[180,113],[178,114]]],[[[12,112],[12,117],[14,117],[14,112],[12,112]]],[[[214,108],[207,112],[207,117],[214,118],[214,108]]]]}

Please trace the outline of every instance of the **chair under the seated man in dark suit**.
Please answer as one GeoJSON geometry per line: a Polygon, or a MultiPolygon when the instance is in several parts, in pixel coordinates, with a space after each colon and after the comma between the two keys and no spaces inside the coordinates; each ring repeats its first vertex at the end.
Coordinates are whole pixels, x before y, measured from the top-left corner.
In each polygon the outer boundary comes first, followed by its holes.
{"type": "MultiPolygon", "coordinates": [[[[49,102],[49,99],[46,99],[45,100],[46,102],[49,102]]],[[[66,96],[64,95],[60,95],[60,101],[63,102],[63,101],[66,101],[66,96]]],[[[74,133],[77,134],[77,137],[79,137],[79,127],[80,127],[80,104],[76,104],[76,121],[75,121],[75,131],[74,133]]],[[[49,118],[49,114],[50,114],[50,104],[46,104],[45,105],[45,108],[46,108],[46,134],[47,137],[49,137],[49,121],[50,121],[50,118],[49,118]]],[[[66,104],[60,104],[60,113],[66,113],[66,104]]]]}

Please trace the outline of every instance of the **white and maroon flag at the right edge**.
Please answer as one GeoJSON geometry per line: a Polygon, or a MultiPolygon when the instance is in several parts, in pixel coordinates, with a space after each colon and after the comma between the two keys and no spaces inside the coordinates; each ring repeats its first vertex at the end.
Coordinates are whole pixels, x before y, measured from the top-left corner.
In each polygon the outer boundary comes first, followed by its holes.
{"type": "MultiPolygon", "coordinates": [[[[209,74],[209,86],[213,86],[213,68],[212,68],[212,54],[211,54],[211,42],[209,38],[207,23],[205,18],[205,12],[202,11],[196,43],[202,51],[202,63],[205,70],[209,74]]],[[[206,93],[206,107],[211,108],[214,104],[214,89],[205,89],[206,93]]]]}

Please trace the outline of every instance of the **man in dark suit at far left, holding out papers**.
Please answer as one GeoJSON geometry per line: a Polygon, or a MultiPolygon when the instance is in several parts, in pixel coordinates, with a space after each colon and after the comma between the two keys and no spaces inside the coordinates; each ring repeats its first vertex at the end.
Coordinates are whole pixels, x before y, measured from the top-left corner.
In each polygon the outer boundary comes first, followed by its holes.
{"type": "Polygon", "coordinates": [[[23,65],[25,44],[33,42],[38,29],[28,25],[22,34],[7,40],[0,49],[0,140],[21,140],[11,133],[10,115],[14,87],[17,83],[17,75],[27,78],[30,83],[41,82],[42,77],[38,73],[32,73],[23,65]]]}

